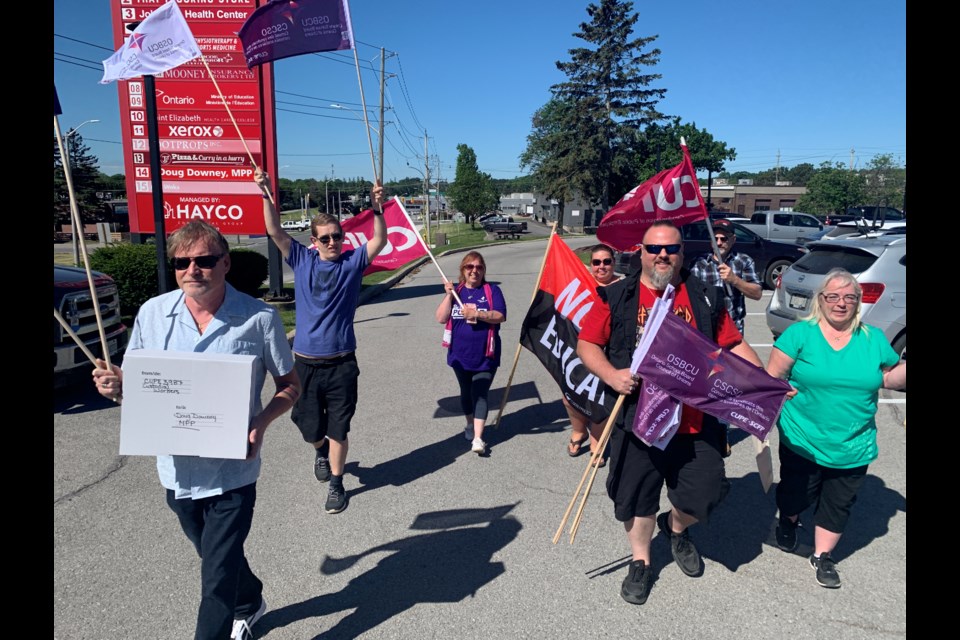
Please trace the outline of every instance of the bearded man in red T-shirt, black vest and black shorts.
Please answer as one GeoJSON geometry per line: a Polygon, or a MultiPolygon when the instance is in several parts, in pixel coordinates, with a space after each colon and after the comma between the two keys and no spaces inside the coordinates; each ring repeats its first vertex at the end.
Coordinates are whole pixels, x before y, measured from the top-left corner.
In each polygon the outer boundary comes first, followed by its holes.
{"type": "Polygon", "coordinates": [[[703,572],[703,561],[687,529],[706,521],[729,489],[722,426],[713,416],[684,406],[677,434],[664,450],[647,446],[633,434],[639,384],[630,373],[630,361],[654,301],[672,284],[674,313],[719,346],[763,367],[730,319],[717,287],[682,269],[683,240],[676,225],[655,222],[644,234],[640,251],[640,271],[600,290],[607,305],[593,306],[577,339],[577,355],[587,369],[625,396],[610,436],[607,494],[633,552],[620,591],[632,604],[643,604],[650,592],[650,542],[655,526],[669,537],[681,571],[688,576],[703,572]],[[657,516],[665,482],[672,508],[657,516]]]}

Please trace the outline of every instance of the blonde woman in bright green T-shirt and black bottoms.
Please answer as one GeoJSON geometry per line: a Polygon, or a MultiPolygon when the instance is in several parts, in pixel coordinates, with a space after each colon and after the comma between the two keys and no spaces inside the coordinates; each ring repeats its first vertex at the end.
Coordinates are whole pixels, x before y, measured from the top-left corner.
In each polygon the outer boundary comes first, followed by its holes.
{"type": "Polygon", "coordinates": [[[797,548],[800,514],[815,505],[810,565],[822,587],[840,586],[834,547],[877,458],[877,397],[907,386],[907,363],[883,332],[860,322],[863,292],[845,269],[832,269],[811,313],[777,339],[767,372],[797,393],[780,412],[777,546],[797,548]]]}

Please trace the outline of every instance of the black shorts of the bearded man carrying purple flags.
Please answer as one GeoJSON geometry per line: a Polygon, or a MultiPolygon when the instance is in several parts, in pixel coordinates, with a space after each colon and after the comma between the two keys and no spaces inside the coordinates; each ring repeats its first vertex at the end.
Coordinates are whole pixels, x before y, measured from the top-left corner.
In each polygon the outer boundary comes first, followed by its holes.
{"type": "Polygon", "coordinates": [[[656,515],[666,483],[667,498],[678,511],[706,522],[730,488],[720,451],[721,436],[716,419],[704,416],[700,433],[677,434],[661,451],[645,445],[633,432],[615,428],[610,434],[607,476],[614,517],[627,522],[656,515]]]}

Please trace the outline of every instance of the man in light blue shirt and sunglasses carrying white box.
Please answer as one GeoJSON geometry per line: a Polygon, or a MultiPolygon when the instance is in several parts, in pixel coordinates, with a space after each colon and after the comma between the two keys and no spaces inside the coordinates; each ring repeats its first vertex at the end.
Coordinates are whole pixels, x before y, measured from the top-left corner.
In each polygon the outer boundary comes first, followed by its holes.
{"type": "MultiPolygon", "coordinates": [[[[168,239],[167,255],[179,289],[151,298],[137,313],[127,350],[157,349],[256,356],[250,397],[246,460],[158,456],[160,483],[201,558],[201,599],[196,640],[250,638],[267,609],[263,583],[243,552],[253,521],[260,447],[267,426],[300,395],[300,378],[283,322],[275,309],[226,281],[230,249],[206,222],[193,221],[168,239]],[[276,393],[266,407],[260,396],[269,373],[276,393]]],[[[97,390],[123,399],[123,372],[98,361],[97,390]]]]}

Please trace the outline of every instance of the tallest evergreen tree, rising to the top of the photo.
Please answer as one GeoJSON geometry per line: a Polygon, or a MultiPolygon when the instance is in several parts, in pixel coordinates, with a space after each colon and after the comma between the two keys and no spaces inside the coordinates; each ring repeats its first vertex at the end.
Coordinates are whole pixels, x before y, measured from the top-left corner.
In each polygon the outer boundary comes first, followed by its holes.
{"type": "Polygon", "coordinates": [[[577,141],[570,153],[581,156],[573,164],[593,166],[578,181],[583,183],[578,190],[588,202],[608,209],[611,194],[619,199],[636,186],[631,159],[638,133],[664,118],[656,107],[666,89],[649,88],[661,75],[643,69],[659,62],[660,50],[645,48],[658,36],[631,38],[639,19],[632,2],[600,0],[587,5],[587,14],[591,21],[573,35],[591,46],[571,49],[569,62],[556,63],[567,80],[551,91],[573,110],[565,117],[577,141]]]}

